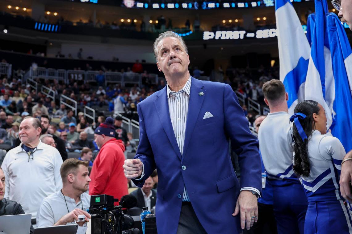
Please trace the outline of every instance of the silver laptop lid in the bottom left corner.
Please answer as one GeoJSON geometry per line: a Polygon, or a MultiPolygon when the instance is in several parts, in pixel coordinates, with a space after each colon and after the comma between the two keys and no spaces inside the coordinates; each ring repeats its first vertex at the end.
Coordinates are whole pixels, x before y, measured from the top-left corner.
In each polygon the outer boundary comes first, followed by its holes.
{"type": "Polygon", "coordinates": [[[31,229],[31,214],[0,216],[1,234],[29,234],[31,229]]]}

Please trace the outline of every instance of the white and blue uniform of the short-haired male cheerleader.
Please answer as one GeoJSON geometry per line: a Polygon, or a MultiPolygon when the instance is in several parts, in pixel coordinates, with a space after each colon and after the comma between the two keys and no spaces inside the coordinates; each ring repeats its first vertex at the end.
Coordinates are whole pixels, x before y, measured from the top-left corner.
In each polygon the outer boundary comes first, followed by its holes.
{"type": "Polygon", "coordinates": [[[258,139],[267,180],[273,188],[277,231],[279,234],[303,234],[308,202],[292,169],[290,115],[269,113],[260,124],[258,139]]]}

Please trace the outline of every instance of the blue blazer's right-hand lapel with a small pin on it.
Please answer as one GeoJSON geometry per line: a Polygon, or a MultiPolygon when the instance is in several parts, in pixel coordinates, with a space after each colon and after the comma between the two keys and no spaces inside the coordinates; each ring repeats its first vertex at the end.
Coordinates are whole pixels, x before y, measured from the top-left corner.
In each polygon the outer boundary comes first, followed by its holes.
{"type": "Polygon", "coordinates": [[[194,126],[198,119],[200,108],[204,100],[206,91],[205,89],[203,89],[203,87],[204,85],[200,80],[197,80],[192,77],[182,158],[187,153],[187,148],[189,146],[189,142],[194,130],[194,126]],[[201,92],[203,92],[202,95],[199,94],[201,92]]]}

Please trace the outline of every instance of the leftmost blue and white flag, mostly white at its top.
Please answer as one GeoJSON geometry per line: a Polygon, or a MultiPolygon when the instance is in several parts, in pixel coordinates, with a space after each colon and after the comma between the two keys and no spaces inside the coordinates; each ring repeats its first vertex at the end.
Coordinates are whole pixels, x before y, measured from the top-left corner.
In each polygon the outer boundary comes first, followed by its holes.
{"type": "Polygon", "coordinates": [[[310,46],[290,0],[275,0],[276,35],[279,47],[280,80],[289,100],[289,114],[304,100],[310,46]]]}

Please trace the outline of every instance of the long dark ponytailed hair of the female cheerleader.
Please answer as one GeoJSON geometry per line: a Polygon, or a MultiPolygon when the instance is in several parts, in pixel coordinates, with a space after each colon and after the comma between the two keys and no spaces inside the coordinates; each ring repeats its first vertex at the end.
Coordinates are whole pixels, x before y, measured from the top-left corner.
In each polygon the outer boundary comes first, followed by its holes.
{"type": "MultiPolygon", "coordinates": [[[[313,100],[305,100],[298,103],[294,110],[294,113],[302,113],[307,116],[304,119],[298,119],[307,135],[307,138],[312,135],[312,131],[315,129],[313,113],[318,114],[319,111],[320,108],[318,106],[318,102],[313,100]]],[[[302,175],[304,177],[308,177],[310,173],[310,162],[308,160],[308,139],[304,139],[304,141],[302,140],[295,123],[293,124],[293,140],[295,151],[295,156],[293,158],[293,170],[298,176],[302,175]]]]}

